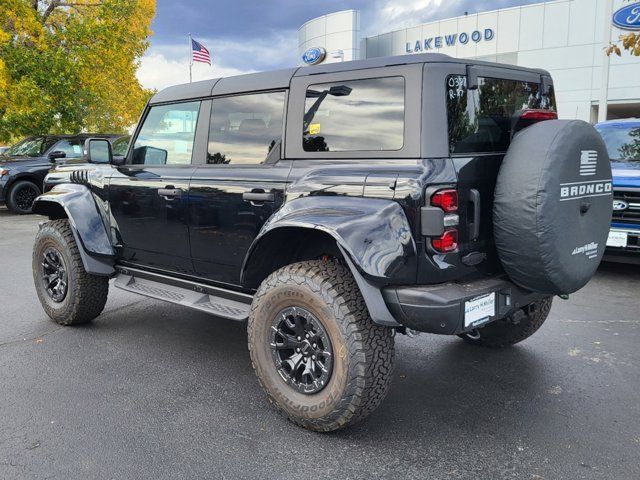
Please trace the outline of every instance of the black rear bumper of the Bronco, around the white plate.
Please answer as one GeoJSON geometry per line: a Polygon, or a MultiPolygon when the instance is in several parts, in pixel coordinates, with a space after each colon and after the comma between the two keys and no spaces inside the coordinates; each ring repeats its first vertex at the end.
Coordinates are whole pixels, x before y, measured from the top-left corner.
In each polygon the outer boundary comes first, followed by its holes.
{"type": "Polygon", "coordinates": [[[467,283],[386,287],[382,295],[400,324],[420,332],[443,335],[457,335],[480,324],[508,317],[546,296],[524,290],[504,277],[467,283]],[[494,315],[465,325],[465,303],[492,293],[495,293],[494,315]]]}

